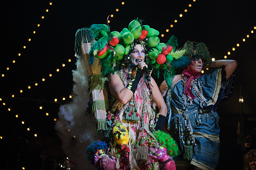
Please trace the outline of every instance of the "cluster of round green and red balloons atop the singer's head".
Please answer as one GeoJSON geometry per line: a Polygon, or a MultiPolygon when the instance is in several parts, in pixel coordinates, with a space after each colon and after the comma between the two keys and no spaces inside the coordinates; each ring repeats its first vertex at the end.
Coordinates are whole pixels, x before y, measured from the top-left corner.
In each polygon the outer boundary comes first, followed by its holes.
{"type": "Polygon", "coordinates": [[[103,75],[113,73],[120,65],[124,65],[125,57],[129,54],[131,44],[135,41],[146,43],[146,51],[148,51],[149,69],[166,70],[172,67],[170,62],[173,59],[182,57],[185,51],[175,53],[177,47],[177,39],[174,37],[167,44],[160,43],[159,31],[148,25],[142,25],[141,22],[133,20],[129,23],[128,28],[124,28],[120,33],[113,31],[110,33],[107,25],[92,25],[90,29],[94,32],[96,43],[92,46],[90,57],[92,54],[101,59],[101,72],[103,75]],[[115,67],[117,66],[117,67],[115,67]],[[114,69],[115,67],[115,69],[114,69]],[[151,68],[152,67],[152,68],[151,68]]]}

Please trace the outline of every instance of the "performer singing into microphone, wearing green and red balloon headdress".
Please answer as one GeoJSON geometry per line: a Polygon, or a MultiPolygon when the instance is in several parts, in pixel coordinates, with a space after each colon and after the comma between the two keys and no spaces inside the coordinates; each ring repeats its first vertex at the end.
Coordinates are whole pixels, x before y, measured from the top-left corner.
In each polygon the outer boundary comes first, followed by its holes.
{"type": "MultiPolygon", "coordinates": [[[[108,146],[104,154],[115,157],[116,169],[175,170],[173,157],[179,151],[173,138],[160,131],[167,107],[151,73],[172,79],[177,60],[183,59],[183,65],[190,60],[182,57],[185,50],[177,50],[174,36],[165,44],[158,35],[140,20],[131,21],[120,33],[110,32],[104,24],[77,32],[76,42],[90,42],[88,55],[81,48],[87,70],[93,72],[98,64],[101,66],[101,75],[90,75],[89,90],[94,98],[96,133],[104,134],[108,146]]],[[[103,167],[97,163],[96,151],[89,148],[87,154],[96,160],[91,163],[103,167]]]]}

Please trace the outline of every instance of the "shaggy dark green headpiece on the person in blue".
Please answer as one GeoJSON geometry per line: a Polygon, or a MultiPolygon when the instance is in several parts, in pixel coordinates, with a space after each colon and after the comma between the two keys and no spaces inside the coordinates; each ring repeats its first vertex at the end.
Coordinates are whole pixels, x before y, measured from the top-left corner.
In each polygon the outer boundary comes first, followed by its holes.
{"type": "Polygon", "coordinates": [[[183,49],[186,50],[186,52],[184,53],[184,56],[186,56],[189,59],[192,59],[192,57],[195,55],[200,57],[203,61],[203,67],[206,67],[210,64],[211,62],[210,53],[208,51],[207,46],[204,43],[187,41],[184,44],[183,49]]]}

